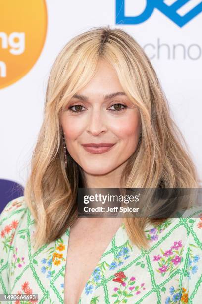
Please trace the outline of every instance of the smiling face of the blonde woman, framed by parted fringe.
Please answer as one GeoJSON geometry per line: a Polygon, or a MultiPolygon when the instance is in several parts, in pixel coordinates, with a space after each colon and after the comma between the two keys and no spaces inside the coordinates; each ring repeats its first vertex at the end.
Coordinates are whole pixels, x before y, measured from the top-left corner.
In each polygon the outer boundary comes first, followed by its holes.
{"type": "Polygon", "coordinates": [[[124,167],[136,150],[141,129],[137,107],[124,94],[113,67],[103,60],[88,85],[65,107],[61,124],[69,154],[90,175],[124,167]]]}

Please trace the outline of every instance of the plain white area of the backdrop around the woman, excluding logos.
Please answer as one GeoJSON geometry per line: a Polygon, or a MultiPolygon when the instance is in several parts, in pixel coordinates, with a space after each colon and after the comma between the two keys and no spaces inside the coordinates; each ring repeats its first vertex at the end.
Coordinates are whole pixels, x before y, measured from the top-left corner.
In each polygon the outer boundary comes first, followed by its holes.
{"type": "MultiPolygon", "coordinates": [[[[145,4],[125,0],[125,14],[138,15],[145,4]]],[[[157,9],[143,23],[115,24],[115,0],[49,0],[47,10],[48,32],[39,59],[24,77],[0,90],[0,179],[25,185],[50,67],[69,39],[102,25],[124,29],[145,47],[202,179],[202,14],[179,27],[157,9]],[[182,46],[173,54],[177,44],[182,46]]]]}

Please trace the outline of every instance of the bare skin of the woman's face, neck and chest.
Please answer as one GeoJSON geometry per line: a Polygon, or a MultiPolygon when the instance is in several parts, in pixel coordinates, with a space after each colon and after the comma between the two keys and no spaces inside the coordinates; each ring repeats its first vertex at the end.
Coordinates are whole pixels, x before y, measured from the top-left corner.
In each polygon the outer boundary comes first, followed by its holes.
{"type": "MultiPolygon", "coordinates": [[[[138,109],[125,94],[116,94],[109,100],[104,98],[117,92],[123,92],[123,88],[114,69],[101,61],[96,75],[70,100],[61,116],[67,150],[83,169],[88,188],[121,187],[122,171],[138,144],[141,129],[138,109]],[[87,97],[88,101],[82,101],[78,95],[87,97]],[[76,110],[79,113],[75,113],[76,110]],[[84,143],[112,143],[114,146],[108,152],[92,154],[84,150],[84,143]]],[[[78,304],[122,220],[78,218],[70,227],[64,304],[78,304]]]]}

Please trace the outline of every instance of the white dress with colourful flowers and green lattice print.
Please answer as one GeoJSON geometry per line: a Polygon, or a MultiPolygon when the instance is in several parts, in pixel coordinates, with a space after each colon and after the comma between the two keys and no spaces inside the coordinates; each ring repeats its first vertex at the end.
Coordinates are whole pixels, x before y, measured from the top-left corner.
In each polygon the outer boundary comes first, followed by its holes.
{"type": "MultiPolygon", "coordinates": [[[[148,225],[147,250],[130,242],[122,223],[87,281],[79,304],[202,303],[202,211],[197,212],[198,217],[193,210],[192,217],[148,225]]],[[[35,229],[23,196],[5,206],[0,215],[0,293],[33,293],[40,304],[64,303],[70,228],[37,251],[32,242],[35,229]]]]}

